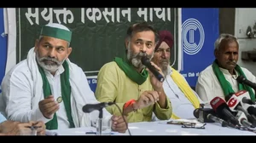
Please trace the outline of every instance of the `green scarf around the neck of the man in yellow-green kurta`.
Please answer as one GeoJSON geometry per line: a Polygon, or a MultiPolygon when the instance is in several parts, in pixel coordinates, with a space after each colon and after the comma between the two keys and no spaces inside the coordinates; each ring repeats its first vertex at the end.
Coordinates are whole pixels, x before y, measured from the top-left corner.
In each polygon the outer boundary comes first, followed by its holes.
{"type": "Polygon", "coordinates": [[[147,80],[147,77],[148,77],[147,70],[143,69],[142,73],[137,72],[134,66],[132,66],[127,61],[127,59],[124,60],[122,58],[115,57],[114,61],[117,63],[119,68],[125,72],[125,75],[129,77],[133,82],[141,85],[147,80]]]}

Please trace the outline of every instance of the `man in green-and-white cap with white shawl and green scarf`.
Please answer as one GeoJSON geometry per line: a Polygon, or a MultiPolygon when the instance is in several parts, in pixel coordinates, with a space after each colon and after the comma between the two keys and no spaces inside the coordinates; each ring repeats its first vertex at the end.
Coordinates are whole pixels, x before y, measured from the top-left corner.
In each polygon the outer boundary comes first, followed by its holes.
{"type": "MultiPolygon", "coordinates": [[[[43,121],[46,129],[69,129],[96,125],[99,112],[84,113],[86,104],[99,103],[83,70],[68,56],[72,31],[51,23],[43,26],[35,47],[3,78],[2,91],[10,120],[43,121]]],[[[103,109],[102,123],[124,133],[125,119],[103,109]]]]}

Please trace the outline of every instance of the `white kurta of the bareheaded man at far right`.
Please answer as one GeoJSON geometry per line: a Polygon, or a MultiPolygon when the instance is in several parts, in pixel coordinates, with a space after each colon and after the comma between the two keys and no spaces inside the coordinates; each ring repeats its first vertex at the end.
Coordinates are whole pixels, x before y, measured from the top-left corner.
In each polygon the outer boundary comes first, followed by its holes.
{"type": "MultiPolygon", "coordinates": [[[[238,73],[236,75],[231,75],[230,72],[224,68],[219,68],[221,72],[223,72],[224,77],[230,83],[232,89],[236,93],[238,91],[238,82],[236,81],[236,77],[238,77],[238,73]]],[[[246,68],[241,67],[242,72],[244,72],[247,79],[253,83],[256,83],[256,77],[253,76],[252,72],[249,72],[246,68]]],[[[218,96],[224,100],[224,92],[218,82],[218,78],[212,70],[212,65],[207,66],[207,68],[199,74],[195,91],[201,98],[201,100],[209,103],[214,97],[218,96]]],[[[253,90],[254,93],[254,90],[253,90]]]]}

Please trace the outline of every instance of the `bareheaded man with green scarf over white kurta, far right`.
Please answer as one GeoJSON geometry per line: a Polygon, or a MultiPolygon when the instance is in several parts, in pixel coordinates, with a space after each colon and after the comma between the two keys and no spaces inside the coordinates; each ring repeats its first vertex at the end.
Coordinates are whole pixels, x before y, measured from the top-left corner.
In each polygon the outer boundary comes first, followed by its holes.
{"type": "Polygon", "coordinates": [[[247,90],[250,99],[255,100],[254,90],[236,80],[238,76],[242,75],[251,82],[256,82],[256,77],[252,72],[236,64],[238,54],[237,38],[230,34],[221,34],[214,43],[216,60],[199,74],[195,86],[195,91],[201,100],[209,102],[216,96],[224,99],[225,96],[240,90],[247,90]]]}

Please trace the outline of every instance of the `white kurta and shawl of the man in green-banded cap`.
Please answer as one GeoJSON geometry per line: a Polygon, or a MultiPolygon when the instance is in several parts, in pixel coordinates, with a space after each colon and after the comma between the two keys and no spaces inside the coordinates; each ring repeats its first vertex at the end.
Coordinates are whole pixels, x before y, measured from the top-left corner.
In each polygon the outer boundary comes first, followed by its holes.
{"type": "MultiPolygon", "coordinates": [[[[67,62],[70,69],[69,81],[72,88],[71,108],[75,127],[95,125],[99,112],[84,113],[82,108],[85,104],[95,104],[98,101],[90,89],[83,70],[69,60],[67,62]]],[[[51,76],[49,72],[46,72],[55,99],[61,96],[61,72],[64,72],[63,67],[58,70],[55,77],[51,76]]],[[[20,122],[40,120],[47,123],[50,120],[45,118],[38,108],[38,102],[44,100],[43,82],[40,76],[35,60],[35,53],[31,49],[27,55],[27,59],[20,61],[3,78],[2,98],[7,118],[20,122]]],[[[57,112],[59,129],[67,129],[68,122],[63,101],[60,107],[60,110],[57,112]]],[[[106,109],[103,109],[102,123],[108,123],[111,116],[106,109]]]]}

